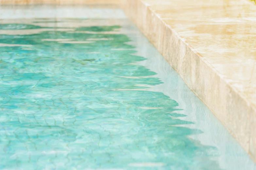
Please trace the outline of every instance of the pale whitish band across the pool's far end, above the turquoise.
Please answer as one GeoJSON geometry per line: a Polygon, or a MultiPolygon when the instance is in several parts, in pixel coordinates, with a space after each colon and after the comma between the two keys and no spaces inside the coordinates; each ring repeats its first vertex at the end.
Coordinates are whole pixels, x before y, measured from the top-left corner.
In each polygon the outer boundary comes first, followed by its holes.
{"type": "MultiPolygon", "coordinates": [[[[80,19],[127,19],[123,10],[116,5],[0,5],[0,18],[20,19],[34,18],[80,18],[80,19]],[[76,10],[74,10],[74,8],[76,10]],[[38,12],[40,11],[40,12],[38,12]]],[[[3,22],[3,21],[2,21],[3,22]]],[[[68,25],[67,25],[68,26],[68,25]]],[[[67,27],[66,26],[66,27],[67,27]]],[[[72,26],[72,25],[71,25],[72,26]]]]}

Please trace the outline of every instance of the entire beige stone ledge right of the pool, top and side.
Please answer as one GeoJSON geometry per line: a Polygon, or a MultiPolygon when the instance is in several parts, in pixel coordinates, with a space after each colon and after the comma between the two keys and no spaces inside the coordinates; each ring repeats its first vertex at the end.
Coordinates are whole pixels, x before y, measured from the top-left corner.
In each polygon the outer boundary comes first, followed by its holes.
{"type": "Polygon", "coordinates": [[[121,0],[127,15],[256,160],[256,6],[121,0]]]}

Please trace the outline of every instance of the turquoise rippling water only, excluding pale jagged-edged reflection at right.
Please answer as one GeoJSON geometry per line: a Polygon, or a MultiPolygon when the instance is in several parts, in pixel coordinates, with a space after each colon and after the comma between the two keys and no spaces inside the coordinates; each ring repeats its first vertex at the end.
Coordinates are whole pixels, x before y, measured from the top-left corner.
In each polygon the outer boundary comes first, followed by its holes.
{"type": "Polygon", "coordinates": [[[224,169],[122,25],[71,21],[0,25],[0,169],[224,169]]]}

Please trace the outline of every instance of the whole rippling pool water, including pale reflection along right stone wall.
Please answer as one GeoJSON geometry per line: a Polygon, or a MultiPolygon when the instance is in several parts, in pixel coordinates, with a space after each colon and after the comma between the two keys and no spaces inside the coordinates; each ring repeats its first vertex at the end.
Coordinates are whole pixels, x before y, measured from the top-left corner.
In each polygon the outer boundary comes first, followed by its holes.
{"type": "MultiPolygon", "coordinates": [[[[9,47],[0,47],[2,62],[5,62],[1,64],[9,70],[9,74],[2,76],[1,84],[8,88],[1,90],[1,93],[13,95],[10,97],[13,101],[8,100],[4,103],[6,106],[1,106],[2,110],[7,109],[1,115],[2,122],[6,123],[1,128],[4,129],[1,135],[16,135],[13,139],[7,137],[7,143],[3,145],[6,150],[1,155],[6,157],[9,154],[4,168],[10,169],[9,166],[16,163],[19,167],[33,169],[39,163],[40,169],[44,166],[43,162],[49,159],[49,165],[45,165],[48,169],[255,168],[222,124],[133,24],[128,20],[81,21],[86,26],[82,27],[81,22],[78,22],[78,29],[48,30],[52,32],[51,35],[46,32],[15,35],[15,31],[11,31],[13,34],[10,35],[2,35],[1,44],[9,44],[9,47]],[[95,29],[101,34],[96,34],[95,29]],[[85,32],[88,30],[92,34],[85,32]],[[21,38],[19,36],[25,37],[22,42],[17,40],[21,38]],[[17,44],[32,44],[32,47],[18,47],[17,44]],[[14,79],[13,75],[17,78],[14,79]],[[45,88],[49,91],[44,91],[45,88]],[[25,108],[24,104],[31,103],[30,100],[35,105],[25,108]],[[81,117],[80,120],[74,120],[78,106],[81,117]],[[42,113],[38,111],[39,108],[42,113]],[[35,119],[37,114],[41,115],[35,119]],[[40,122],[37,119],[42,115],[45,118],[40,122]],[[53,121],[55,116],[60,118],[58,127],[53,121]],[[16,124],[10,122],[17,117],[19,120],[16,120],[16,124]],[[20,119],[23,117],[34,119],[34,125],[40,127],[24,128],[29,121],[24,119],[25,124],[21,124],[20,119]],[[24,129],[14,132],[16,128],[13,127],[16,126],[24,129]],[[89,129],[88,132],[83,128],[89,129]],[[49,129],[52,132],[46,132],[45,137],[33,134],[34,130],[43,130],[39,135],[44,135],[44,131],[49,129]],[[105,134],[106,131],[108,133],[105,134]],[[110,132],[113,133],[112,137],[109,136],[110,132]],[[29,137],[20,139],[19,134],[29,137]],[[33,141],[37,137],[41,140],[33,141]],[[61,142],[59,139],[66,141],[61,142]],[[17,143],[9,144],[12,140],[17,140],[17,143]],[[36,146],[47,140],[50,142],[45,142],[46,145],[36,146]],[[27,142],[33,143],[29,145],[31,148],[26,146],[20,152],[12,148],[20,149],[20,144],[27,142]],[[83,154],[79,153],[84,148],[89,148],[90,153],[86,149],[83,154]],[[33,162],[31,155],[41,158],[33,162]],[[71,156],[69,158],[66,155],[71,156]],[[20,160],[20,156],[24,160],[20,160]],[[58,164],[60,160],[62,163],[58,164]]],[[[31,23],[31,20],[20,22],[31,23]]],[[[63,19],[63,22],[68,21],[63,19]]],[[[63,22],[57,25],[65,25],[63,22]]],[[[41,26],[46,23],[33,22],[41,26]]],[[[48,22],[47,26],[51,23],[48,22]]],[[[15,27],[15,24],[10,26],[15,27]]],[[[4,70],[5,73],[7,70],[4,70]]]]}

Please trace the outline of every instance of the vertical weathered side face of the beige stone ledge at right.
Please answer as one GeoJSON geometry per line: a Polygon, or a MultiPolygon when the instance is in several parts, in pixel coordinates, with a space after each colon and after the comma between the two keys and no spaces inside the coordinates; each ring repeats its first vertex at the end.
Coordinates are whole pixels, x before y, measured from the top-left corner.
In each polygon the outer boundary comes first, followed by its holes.
{"type": "Polygon", "coordinates": [[[149,4],[121,0],[120,6],[256,162],[256,108],[250,101],[184,42],[149,4]]]}

